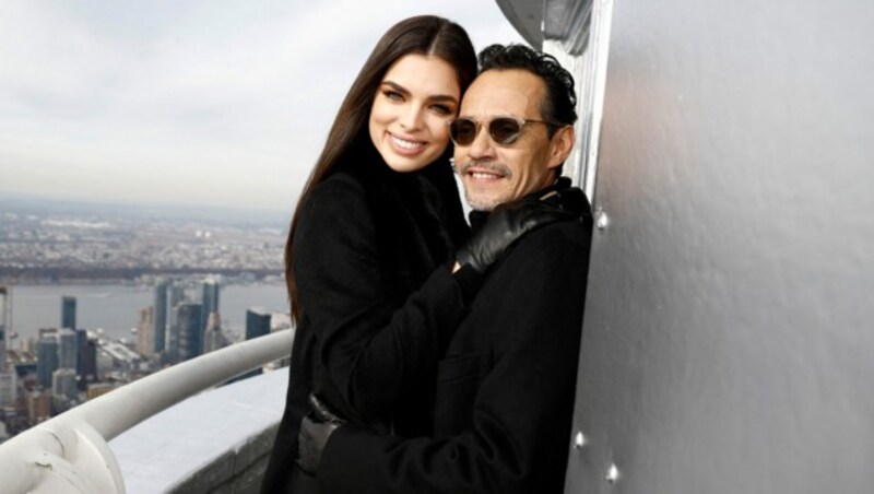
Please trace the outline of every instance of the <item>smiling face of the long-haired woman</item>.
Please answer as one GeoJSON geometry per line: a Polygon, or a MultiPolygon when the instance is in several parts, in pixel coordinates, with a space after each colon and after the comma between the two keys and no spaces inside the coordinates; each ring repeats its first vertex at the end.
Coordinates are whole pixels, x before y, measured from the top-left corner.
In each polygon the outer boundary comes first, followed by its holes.
{"type": "Polygon", "coordinates": [[[370,108],[370,139],[395,172],[434,162],[449,143],[448,121],[458,114],[456,70],[441,58],[406,55],[386,72],[370,108]]]}

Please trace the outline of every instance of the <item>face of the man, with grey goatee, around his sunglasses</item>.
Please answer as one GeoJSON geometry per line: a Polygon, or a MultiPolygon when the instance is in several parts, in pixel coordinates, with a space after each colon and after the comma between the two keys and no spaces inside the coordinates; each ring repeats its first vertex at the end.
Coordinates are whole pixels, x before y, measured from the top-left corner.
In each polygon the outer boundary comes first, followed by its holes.
{"type": "Polygon", "coordinates": [[[459,117],[477,121],[480,130],[469,145],[456,144],[454,158],[472,209],[491,211],[555,179],[555,168],[574,143],[571,127],[550,139],[547,126],[527,124],[519,139],[508,145],[496,143],[488,134],[488,122],[495,117],[543,120],[540,103],[545,91],[538,75],[512,69],[485,71],[464,93],[459,117]]]}

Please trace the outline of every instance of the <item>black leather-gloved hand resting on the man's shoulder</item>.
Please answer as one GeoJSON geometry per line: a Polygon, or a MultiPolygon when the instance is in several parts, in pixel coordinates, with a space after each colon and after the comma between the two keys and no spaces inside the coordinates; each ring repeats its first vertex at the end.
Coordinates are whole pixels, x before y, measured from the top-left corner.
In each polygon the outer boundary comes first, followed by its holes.
{"type": "Polygon", "coordinates": [[[551,190],[543,195],[525,196],[498,204],[488,214],[482,228],[458,249],[456,252],[458,263],[470,264],[477,272],[484,273],[516,240],[532,230],[559,221],[579,219],[579,212],[560,205],[563,193],[565,191],[551,190]]]}

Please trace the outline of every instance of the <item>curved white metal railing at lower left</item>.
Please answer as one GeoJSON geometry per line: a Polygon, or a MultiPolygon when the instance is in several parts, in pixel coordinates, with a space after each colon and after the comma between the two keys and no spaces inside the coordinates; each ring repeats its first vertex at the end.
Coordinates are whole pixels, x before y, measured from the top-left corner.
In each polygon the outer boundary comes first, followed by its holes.
{"type": "Polygon", "coordinates": [[[184,399],[288,356],[293,330],[174,365],[52,417],[0,445],[0,489],[24,493],[125,493],[107,442],[184,399]]]}

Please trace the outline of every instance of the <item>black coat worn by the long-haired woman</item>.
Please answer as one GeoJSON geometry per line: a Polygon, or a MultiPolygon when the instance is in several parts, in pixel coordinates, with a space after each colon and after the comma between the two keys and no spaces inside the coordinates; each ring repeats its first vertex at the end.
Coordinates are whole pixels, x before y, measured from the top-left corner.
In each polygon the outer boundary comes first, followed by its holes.
{"type": "Polygon", "coordinates": [[[295,467],[310,392],[352,423],[429,434],[428,384],[465,313],[444,266],[468,235],[448,163],[399,174],[374,153],[341,166],[303,208],[293,263],[303,310],[264,493],[316,492],[295,467]]]}

